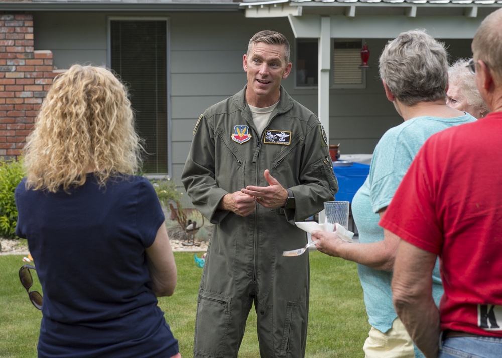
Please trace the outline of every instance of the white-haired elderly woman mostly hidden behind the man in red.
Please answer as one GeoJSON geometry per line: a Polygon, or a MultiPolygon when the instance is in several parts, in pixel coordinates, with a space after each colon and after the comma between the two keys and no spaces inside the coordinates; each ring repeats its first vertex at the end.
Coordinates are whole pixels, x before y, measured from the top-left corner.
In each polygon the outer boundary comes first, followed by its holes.
{"type": "Polygon", "coordinates": [[[476,87],[474,76],[467,68],[469,60],[458,59],[448,68],[448,91],[446,105],[467,112],[476,118],[489,113],[476,87]]]}

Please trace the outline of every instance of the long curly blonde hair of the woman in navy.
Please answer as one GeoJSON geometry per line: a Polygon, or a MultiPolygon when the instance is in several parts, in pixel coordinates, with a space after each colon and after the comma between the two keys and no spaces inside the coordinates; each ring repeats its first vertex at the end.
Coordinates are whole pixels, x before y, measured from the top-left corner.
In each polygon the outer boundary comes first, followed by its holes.
{"type": "Polygon", "coordinates": [[[57,192],[140,167],[140,138],[126,88],[100,67],[74,65],[55,78],[25,146],[28,188],[57,192]]]}

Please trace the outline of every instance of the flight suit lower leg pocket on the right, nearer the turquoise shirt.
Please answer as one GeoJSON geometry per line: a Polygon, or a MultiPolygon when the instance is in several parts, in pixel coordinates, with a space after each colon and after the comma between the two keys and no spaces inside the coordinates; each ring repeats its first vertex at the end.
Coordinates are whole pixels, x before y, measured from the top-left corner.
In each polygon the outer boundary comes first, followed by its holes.
{"type": "Polygon", "coordinates": [[[303,335],[307,324],[307,305],[305,302],[288,302],[281,340],[280,356],[300,356],[303,335]]]}

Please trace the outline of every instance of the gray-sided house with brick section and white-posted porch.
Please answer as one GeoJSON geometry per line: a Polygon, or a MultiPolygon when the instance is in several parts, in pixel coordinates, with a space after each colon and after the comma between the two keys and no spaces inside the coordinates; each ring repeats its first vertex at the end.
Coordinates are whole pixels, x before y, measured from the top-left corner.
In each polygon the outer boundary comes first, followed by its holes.
{"type": "Polygon", "coordinates": [[[290,40],[288,93],[323,123],[342,154],[373,152],[401,122],[378,76],[400,32],[425,28],[450,61],[471,56],[495,0],[54,0],[0,2],[0,156],[17,156],[52,78],[74,63],[104,65],[130,87],[149,153],[145,173],[179,181],[199,115],[246,83],[249,38],[290,40]],[[361,48],[369,49],[368,68],[361,48]],[[35,61],[37,60],[37,61],[35,61]],[[42,61],[40,61],[42,60],[42,61]]]}

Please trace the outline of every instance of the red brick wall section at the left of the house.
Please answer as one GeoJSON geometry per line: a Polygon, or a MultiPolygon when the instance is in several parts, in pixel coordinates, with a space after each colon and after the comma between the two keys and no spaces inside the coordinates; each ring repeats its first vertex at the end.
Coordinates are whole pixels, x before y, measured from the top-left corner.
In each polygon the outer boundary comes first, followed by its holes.
{"type": "Polygon", "coordinates": [[[0,157],[17,158],[58,74],[52,52],[33,50],[33,16],[0,12],[0,157]]]}

